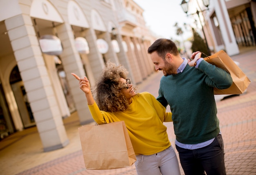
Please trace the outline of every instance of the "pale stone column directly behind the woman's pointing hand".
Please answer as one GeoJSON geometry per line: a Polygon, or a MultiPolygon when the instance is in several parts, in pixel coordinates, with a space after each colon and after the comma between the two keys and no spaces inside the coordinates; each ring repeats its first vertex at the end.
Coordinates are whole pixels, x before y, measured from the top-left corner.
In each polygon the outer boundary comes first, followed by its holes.
{"type": "Polygon", "coordinates": [[[85,94],[79,89],[79,81],[74,78],[71,73],[83,77],[85,71],[81,57],[76,51],[74,44],[74,35],[70,24],[64,23],[56,27],[58,38],[63,45],[63,53],[61,53],[61,61],[63,68],[67,74],[67,81],[70,86],[70,91],[76,106],[76,111],[79,115],[80,124],[87,124],[93,121],[92,115],[87,106],[85,94]]]}

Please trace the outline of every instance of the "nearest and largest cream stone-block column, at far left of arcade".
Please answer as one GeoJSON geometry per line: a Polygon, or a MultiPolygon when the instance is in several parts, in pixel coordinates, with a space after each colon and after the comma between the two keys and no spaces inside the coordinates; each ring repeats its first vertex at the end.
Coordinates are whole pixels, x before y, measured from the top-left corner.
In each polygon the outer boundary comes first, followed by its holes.
{"type": "Polygon", "coordinates": [[[44,151],[69,143],[30,16],[4,21],[44,151]]]}

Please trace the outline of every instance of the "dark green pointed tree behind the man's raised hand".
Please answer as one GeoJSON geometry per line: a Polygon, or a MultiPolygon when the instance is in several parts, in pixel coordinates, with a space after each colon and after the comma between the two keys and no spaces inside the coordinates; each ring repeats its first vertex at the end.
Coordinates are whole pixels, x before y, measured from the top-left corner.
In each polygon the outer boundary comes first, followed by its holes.
{"type": "Polygon", "coordinates": [[[204,40],[195,31],[195,29],[192,28],[192,31],[193,31],[193,40],[191,41],[192,42],[192,46],[191,46],[192,52],[200,51],[200,52],[203,52],[205,54],[208,54],[207,46],[206,46],[204,40]]]}

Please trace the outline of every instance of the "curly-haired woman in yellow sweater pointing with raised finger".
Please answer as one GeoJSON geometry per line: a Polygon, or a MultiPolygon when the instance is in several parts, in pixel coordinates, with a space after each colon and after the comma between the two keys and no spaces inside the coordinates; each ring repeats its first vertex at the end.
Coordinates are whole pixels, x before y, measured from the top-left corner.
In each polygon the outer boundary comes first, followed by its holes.
{"type": "Polygon", "coordinates": [[[103,117],[107,123],[125,122],[137,158],[138,175],[180,175],[177,156],[163,124],[172,122],[172,113],[166,113],[164,106],[150,93],[136,93],[124,66],[106,64],[96,84],[96,102],[89,80],[72,75],[79,80],[79,87],[98,124],[104,124],[103,117]]]}

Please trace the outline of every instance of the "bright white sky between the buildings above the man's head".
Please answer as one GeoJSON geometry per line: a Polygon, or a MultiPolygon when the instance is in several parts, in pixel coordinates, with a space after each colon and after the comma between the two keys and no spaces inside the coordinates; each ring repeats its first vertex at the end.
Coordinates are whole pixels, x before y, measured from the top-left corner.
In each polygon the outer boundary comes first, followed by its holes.
{"type": "Polygon", "coordinates": [[[192,36],[191,29],[185,29],[184,23],[193,23],[193,17],[186,16],[182,10],[180,3],[182,0],[133,0],[142,9],[144,9],[144,19],[146,25],[151,31],[157,35],[173,39],[173,40],[186,40],[192,36]],[[182,36],[176,35],[175,23],[182,27],[184,34],[182,36]]]}

